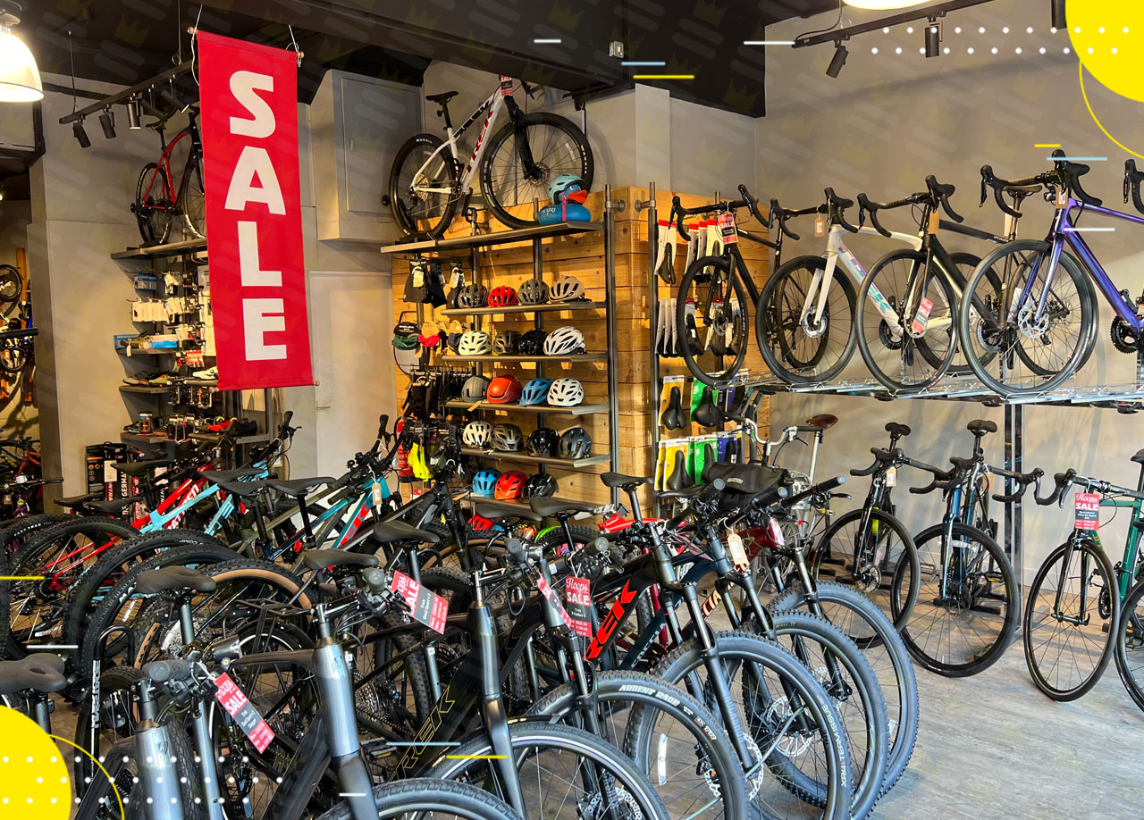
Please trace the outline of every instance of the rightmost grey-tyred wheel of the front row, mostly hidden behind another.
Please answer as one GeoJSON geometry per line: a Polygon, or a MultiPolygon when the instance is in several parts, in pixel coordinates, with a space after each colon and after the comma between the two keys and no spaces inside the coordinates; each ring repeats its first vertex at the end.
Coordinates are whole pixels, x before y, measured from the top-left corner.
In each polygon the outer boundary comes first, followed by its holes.
{"type": "Polygon", "coordinates": [[[801,584],[794,584],[779,594],[770,608],[772,612],[817,608],[866,655],[882,687],[889,717],[890,759],[883,794],[889,791],[914,754],[919,723],[917,678],[893,623],[853,588],[827,581],[817,583],[811,595],[801,584]]]}

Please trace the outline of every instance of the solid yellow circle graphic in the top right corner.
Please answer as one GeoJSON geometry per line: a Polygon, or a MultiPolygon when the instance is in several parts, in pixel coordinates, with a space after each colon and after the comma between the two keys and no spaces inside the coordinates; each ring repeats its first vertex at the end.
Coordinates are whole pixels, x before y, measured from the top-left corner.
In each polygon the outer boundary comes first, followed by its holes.
{"type": "Polygon", "coordinates": [[[1144,15],[1139,0],[1068,0],[1068,39],[1109,90],[1144,102],[1144,15]]]}

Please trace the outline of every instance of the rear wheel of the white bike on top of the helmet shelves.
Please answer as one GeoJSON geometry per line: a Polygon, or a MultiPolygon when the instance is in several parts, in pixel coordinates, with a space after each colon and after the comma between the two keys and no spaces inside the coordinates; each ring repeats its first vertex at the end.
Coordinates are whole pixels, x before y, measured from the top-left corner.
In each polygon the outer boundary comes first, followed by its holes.
{"type": "Polygon", "coordinates": [[[389,172],[389,207],[410,237],[440,237],[453,221],[460,192],[456,164],[432,134],[406,140],[389,172]]]}

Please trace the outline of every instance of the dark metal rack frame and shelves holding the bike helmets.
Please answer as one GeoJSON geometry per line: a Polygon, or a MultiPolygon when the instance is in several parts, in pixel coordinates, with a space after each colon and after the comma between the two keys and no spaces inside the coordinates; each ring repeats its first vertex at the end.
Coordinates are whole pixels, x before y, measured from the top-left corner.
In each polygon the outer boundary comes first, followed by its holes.
{"type": "MultiPolygon", "coordinates": [[[[615,214],[623,209],[623,202],[621,200],[612,200],[612,189],[611,185],[605,185],[604,188],[604,218],[601,222],[564,222],[554,225],[535,225],[531,228],[519,228],[506,231],[494,231],[491,233],[477,233],[476,232],[476,220],[470,220],[472,224],[474,232],[470,236],[463,237],[448,237],[443,239],[427,239],[421,241],[408,241],[398,242],[396,245],[387,245],[381,248],[381,253],[384,255],[426,255],[432,254],[438,258],[456,258],[463,254],[469,255],[469,264],[474,272],[474,281],[477,280],[479,276],[479,250],[482,248],[493,247],[496,245],[508,245],[511,242],[531,241],[532,242],[532,276],[534,279],[541,279],[543,277],[543,240],[553,239],[556,237],[569,237],[583,233],[602,232],[604,234],[604,280],[605,280],[605,300],[603,302],[563,302],[563,303],[549,303],[541,305],[515,305],[511,308],[455,308],[440,311],[442,315],[448,317],[468,317],[469,328],[476,328],[477,323],[471,321],[475,317],[491,316],[491,315],[521,315],[531,313],[533,315],[533,326],[540,328],[542,326],[542,317],[547,312],[551,311],[577,311],[577,310],[599,310],[605,311],[605,324],[606,324],[606,350],[604,352],[595,353],[581,353],[575,356],[452,356],[444,355],[439,357],[439,361],[443,364],[460,364],[468,363],[471,364],[470,368],[472,373],[479,373],[482,364],[492,363],[535,363],[537,364],[537,376],[542,376],[546,363],[585,363],[585,361],[603,361],[606,363],[607,367],[607,400],[604,404],[593,404],[593,405],[578,405],[575,407],[548,407],[545,405],[531,405],[522,407],[517,404],[492,404],[488,401],[466,401],[463,399],[453,399],[444,403],[445,407],[454,409],[468,409],[468,411],[509,411],[509,412],[521,412],[521,413],[535,413],[537,414],[537,425],[543,427],[546,416],[551,414],[570,415],[570,416],[582,416],[589,414],[602,414],[606,413],[609,417],[609,451],[607,453],[595,452],[591,456],[587,459],[566,460],[566,459],[547,459],[527,455],[526,453],[502,453],[502,452],[488,452],[482,449],[470,449],[464,448],[462,453],[464,455],[471,455],[480,459],[488,459],[494,461],[506,461],[513,463],[526,463],[534,464],[539,468],[540,472],[545,472],[548,467],[561,467],[569,470],[580,470],[586,467],[594,464],[607,463],[612,471],[619,471],[619,390],[618,390],[618,349],[617,349],[617,324],[615,324],[615,214]]],[[[419,306],[419,319],[420,319],[420,306],[419,306]]],[[[462,497],[468,497],[469,500],[482,503],[482,504],[495,504],[503,509],[511,510],[514,507],[519,507],[517,502],[506,502],[495,501],[493,499],[484,496],[475,496],[470,494],[464,494],[462,497]]],[[[619,501],[619,491],[611,491],[612,502],[619,501]]]]}

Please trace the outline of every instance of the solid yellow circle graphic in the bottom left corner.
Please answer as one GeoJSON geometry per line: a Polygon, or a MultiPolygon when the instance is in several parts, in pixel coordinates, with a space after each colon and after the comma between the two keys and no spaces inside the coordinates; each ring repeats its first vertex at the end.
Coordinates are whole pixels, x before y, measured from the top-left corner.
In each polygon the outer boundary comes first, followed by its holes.
{"type": "Polygon", "coordinates": [[[0,817],[66,820],[71,804],[64,754],[34,721],[0,706],[0,817]]]}

